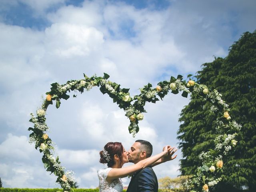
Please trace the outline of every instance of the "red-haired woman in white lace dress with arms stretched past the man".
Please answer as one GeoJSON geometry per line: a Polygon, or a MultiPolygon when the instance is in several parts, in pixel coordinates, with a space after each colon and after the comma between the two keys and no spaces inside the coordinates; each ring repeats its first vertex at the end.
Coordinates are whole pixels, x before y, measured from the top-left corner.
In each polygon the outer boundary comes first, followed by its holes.
{"type": "Polygon", "coordinates": [[[100,163],[107,163],[108,168],[97,171],[100,180],[99,192],[122,192],[123,186],[120,178],[131,175],[147,166],[154,166],[167,161],[161,160],[161,158],[171,156],[176,151],[172,151],[173,149],[169,145],[165,146],[161,153],[141,160],[134,165],[122,168],[124,163],[129,162],[128,152],[124,150],[120,142],[108,142],[104,149],[100,151],[100,163]]]}

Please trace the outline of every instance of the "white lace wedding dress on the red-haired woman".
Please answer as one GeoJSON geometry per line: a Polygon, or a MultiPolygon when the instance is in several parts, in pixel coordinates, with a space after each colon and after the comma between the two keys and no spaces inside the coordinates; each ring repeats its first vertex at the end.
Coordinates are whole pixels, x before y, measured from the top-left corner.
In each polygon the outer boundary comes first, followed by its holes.
{"type": "Polygon", "coordinates": [[[100,169],[97,170],[98,177],[100,180],[100,191],[99,192],[122,192],[123,191],[123,184],[122,180],[120,178],[114,180],[112,183],[108,183],[106,181],[106,178],[108,176],[108,172],[112,168],[105,168],[105,169],[100,169]]]}

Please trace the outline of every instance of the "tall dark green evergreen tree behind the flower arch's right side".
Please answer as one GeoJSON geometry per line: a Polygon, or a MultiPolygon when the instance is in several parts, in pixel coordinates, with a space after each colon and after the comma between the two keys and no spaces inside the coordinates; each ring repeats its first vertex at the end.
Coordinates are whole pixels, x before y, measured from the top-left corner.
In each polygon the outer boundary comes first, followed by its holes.
{"type": "MultiPolygon", "coordinates": [[[[238,144],[224,158],[224,173],[214,191],[256,191],[256,31],[245,32],[229,49],[226,58],[202,65],[199,84],[216,89],[230,105],[230,116],[242,125],[238,144]]],[[[182,110],[178,130],[183,159],[182,175],[193,174],[200,165],[198,155],[214,148],[216,115],[210,103],[191,96],[182,110]]]]}

